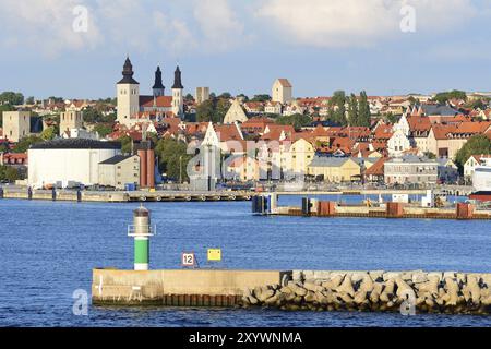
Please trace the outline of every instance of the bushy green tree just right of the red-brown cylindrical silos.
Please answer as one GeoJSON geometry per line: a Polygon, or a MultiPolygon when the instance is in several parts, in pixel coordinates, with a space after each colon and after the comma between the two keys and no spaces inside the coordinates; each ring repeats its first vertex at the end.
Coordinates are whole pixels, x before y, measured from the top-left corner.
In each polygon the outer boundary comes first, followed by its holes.
{"type": "Polygon", "coordinates": [[[188,146],[184,142],[173,139],[161,139],[155,147],[155,154],[159,159],[159,170],[167,173],[168,178],[188,181],[187,167],[193,157],[187,154],[188,146]]]}

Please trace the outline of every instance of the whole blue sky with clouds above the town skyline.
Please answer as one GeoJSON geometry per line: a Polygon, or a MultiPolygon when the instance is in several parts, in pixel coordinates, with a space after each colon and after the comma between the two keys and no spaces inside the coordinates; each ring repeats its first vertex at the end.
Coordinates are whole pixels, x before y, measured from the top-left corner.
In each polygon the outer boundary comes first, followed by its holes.
{"type": "Polygon", "coordinates": [[[197,86],[296,97],[491,91],[491,0],[0,0],[0,92],[116,95],[127,55],[141,94],[160,65],[197,86]]]}

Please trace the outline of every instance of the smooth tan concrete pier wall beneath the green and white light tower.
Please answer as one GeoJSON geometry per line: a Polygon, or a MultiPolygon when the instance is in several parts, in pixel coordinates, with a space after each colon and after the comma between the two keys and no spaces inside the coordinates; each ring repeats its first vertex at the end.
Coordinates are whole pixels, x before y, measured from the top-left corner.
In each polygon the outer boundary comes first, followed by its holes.
{"type": "Polygon", "coordinates": [[[287,278],[291,277],[291,273],[271,270],[135,272],[94,269],[92,299],[94,304],[152,303],[165,305],[166,301],[170,299],[170,303],[176,303],[175,305],[191,305],[185,304],[185,299],[202,297],[202,305],[213,305],[206,304],[206,300],[219,305],[224,298],[228,305],[235,305],[242,298],[243,290],[280,284],[284,275],[287,275],[287,278]]]}

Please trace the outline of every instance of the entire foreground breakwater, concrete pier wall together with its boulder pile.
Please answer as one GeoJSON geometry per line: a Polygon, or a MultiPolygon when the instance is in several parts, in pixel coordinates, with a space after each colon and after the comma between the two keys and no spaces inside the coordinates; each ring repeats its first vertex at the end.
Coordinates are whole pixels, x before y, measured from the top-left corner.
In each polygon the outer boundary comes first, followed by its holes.
{"type": "Polygon", "coordinates": [[[490,314],[491,274],[93,270],[93,304],[490,314]]]}

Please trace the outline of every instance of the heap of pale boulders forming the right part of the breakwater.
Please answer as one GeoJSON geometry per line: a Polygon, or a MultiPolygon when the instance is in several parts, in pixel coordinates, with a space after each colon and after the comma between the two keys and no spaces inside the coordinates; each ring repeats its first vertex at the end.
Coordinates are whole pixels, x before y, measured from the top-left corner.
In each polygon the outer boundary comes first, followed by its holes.
{"type": "Polygon", "coordinates": [[[298,311],[490,314],[491,274],[294,272],[287,285],[248,289],[242,304],[298,311]]]}

